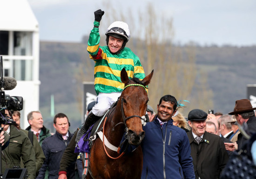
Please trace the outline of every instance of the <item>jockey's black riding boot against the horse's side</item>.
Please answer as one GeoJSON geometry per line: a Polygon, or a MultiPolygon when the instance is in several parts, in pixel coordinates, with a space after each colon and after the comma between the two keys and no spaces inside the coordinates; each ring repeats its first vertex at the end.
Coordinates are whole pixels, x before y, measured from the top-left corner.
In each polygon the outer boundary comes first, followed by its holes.
{"type": "Polygon", "coordinates": [[[86,120],[84,121],[83,126],[78,130],[75,141],[78,142],[80,138],[85,134],[91,125],[93,125],[98,119],[100,119],[100,116],[94,115],[92,111],[89,112],[86,120]]]}

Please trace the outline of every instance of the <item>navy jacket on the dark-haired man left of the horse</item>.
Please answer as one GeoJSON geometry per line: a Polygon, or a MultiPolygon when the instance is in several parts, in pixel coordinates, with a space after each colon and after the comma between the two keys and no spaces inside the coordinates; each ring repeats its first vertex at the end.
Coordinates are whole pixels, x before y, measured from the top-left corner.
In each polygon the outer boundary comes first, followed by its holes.
{"type": "MultiPolygon", "coordinates": [[[[67,145],[71,141],[73,134],[68,131],[67,141],[62,139],[62,135],[56,132],[54,135],[47,137],[42,143],[42,149],[45,154],[45,161],[39,170],[37,179],[44,179],[48,167],[48,179],[58,179],[61,157],[67,145]]],[[[67,167],[67,178],[74,179],[75,161],[67,167]]]]}

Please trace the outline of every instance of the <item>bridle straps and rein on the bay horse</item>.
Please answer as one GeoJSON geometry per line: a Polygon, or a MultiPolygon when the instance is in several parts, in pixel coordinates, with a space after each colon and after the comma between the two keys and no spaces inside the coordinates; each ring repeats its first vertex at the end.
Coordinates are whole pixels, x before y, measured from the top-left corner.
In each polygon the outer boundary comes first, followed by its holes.
{"type": "MultiPolygon", "coordinates": [[[[141,86],[141,87],[143,87],[145,90],[146,90],[146,87],[144,86],[144,85],[142,85],[142,84],[128,84],[127,86],[125,86],[124,87],[124,89],[123,90],[125,90],[127,87],[129,87],[129,86],[141,86]]],[[[147,91],[147,90],[146,90],[147,91]]],[[[127,126],[126,126],[126,121],[128,120],[128,119],[130,119],[130,118],[133,118],[133,117],[139,117],[141,120],[144,120],[141,116],[139,116],[139,115],[131,115],[131,116],[128,116],[127,118],[125,118],[125,115],[124,115],[124,110],[123,110],[123,98],[121,98],[121,112],[122,112],[122,118],[123,118],[123,122],[124,122],[124,125],[125,125],[125,128],[126,128],[126,133],[127,133],[127,126]]],[[[106,121],[107,121],[107,117],[105,118],[105,120],[104,120],[104,123],[103,123],[103,147],[104,147],[104,150],[105,150],[105,153],[108,155],[108,157],[109,158],[111,158],[111,159],[119,159],[119,158],[121,158],[123,155],[124,155],[124,152],[122,152],[118,157],[111,157],[109,154],[108,154],[108,151],[107,151],[107,149],[106,149],[106,147],[105,147],[105,143],[104,143],[104,134],[105,134],[105,123],[106,123],[106,121]]],[[[121,122],[119,122],[118,124],[120,124],[121,122]]],[[[118,124],[116,124],[116,125],[118,125],[118,124]]]]}

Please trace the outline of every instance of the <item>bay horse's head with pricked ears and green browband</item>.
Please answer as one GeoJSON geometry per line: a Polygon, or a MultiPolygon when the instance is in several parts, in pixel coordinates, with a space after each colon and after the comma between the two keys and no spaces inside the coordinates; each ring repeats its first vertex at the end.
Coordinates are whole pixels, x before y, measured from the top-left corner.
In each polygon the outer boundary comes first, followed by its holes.
{"type": "Polygon", "coordinates": [[[128,129],[128,141],[138,145],[145,136],[141,116],[146,114],[148,95],[146,85],[150,83],[154,70],[143,80],[129,79],[125,69],[121,70],[121,81],[125,88],[121,94],[122,117],[128,129]]]}

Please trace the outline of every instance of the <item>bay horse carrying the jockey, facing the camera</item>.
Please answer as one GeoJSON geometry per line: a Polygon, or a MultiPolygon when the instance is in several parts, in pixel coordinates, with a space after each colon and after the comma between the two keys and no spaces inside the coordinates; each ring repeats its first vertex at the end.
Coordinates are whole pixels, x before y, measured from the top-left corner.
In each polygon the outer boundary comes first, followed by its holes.
{"type": "MultiPolygon", "coordinates": [[[[146,85],[150,83],[154,70],[143,80],[129,79],[125,69],[121,70],[124,90],[115,109],[108,115],[103,127],[105,140],[113,146],[120,145],[123,134],[127,131],[130,144],[139,145],[145,136],[141,116],[146,114],[148,95],[146,85]]],[[[104,138],[103,138],[104,139],[104,138]]],[[[104,142],[104,140],[103,140],[104,142]]],[[[87,179],[140,179],[142,171],[142,149],[137,147],[125,155],[106,147],[97,137],[91,147],[87,179]],[[104,149],[105,148],[105,149],[104,149]]],[[[106,143],[106,142],[105,142],[106,143]]]]}

